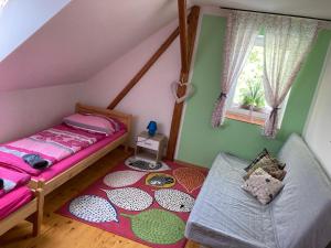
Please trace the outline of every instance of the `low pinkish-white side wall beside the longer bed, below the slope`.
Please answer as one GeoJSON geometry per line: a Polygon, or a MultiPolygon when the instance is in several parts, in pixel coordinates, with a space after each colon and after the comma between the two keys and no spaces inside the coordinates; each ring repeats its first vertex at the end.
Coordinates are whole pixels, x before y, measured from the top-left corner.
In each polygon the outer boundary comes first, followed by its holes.
{"type": "Polygon", "coordinates": [[[76,101],[85,101],[83,84],[17,91],[0,91],[0,142],[42,130],[74,111],[76,101]]]}

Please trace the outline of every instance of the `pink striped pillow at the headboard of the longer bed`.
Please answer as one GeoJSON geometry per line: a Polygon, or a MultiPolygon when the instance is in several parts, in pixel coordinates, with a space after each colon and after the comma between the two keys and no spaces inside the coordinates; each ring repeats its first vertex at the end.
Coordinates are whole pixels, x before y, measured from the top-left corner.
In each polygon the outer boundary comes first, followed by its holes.
{"type": "Polygon", "coordinates": [[[63,122],[70,127],[82,129],[88,132],[103,133],[106,136],[119,131],[120,125],[108,117],[97,115],[74,114],[65,117],[63,122]]]}

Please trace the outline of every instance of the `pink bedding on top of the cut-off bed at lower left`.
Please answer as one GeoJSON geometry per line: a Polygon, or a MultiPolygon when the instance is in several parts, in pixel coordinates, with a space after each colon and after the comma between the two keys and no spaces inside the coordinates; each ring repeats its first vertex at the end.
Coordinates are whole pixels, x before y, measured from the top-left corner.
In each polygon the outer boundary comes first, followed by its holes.
{"type": "Polygon", "coordinates": [[[4,182],[4,188],[0,190],[1,197],[17,187],[25,185],[31,176],[6,168],[0,168],[0,179],[4,182]]]}

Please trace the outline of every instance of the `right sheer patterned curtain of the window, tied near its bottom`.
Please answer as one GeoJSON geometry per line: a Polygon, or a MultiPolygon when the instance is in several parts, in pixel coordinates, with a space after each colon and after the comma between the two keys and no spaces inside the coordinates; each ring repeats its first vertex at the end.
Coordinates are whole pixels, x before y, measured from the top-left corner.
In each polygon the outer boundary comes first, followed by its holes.
{"type": "Polygon", "coordinates": [[[318,33],[318,21],[266,15],[264,45],[264,87],[268,105],[264,134],[277,134],[279,108],[289,93],[301,64],[318,33]]]}

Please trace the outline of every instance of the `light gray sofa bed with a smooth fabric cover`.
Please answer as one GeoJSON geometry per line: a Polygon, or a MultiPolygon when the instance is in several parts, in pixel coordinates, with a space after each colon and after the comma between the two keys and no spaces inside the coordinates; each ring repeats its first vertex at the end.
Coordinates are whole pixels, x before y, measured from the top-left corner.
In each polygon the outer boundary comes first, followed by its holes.
{"type": "Polygon", "coordinates": [[[325,248],[331,240],[331,183],[305,141],[292,134],[278,154],[285,187],[261,205],[241,188],[248,162],[215,159],[185,236],[213,248],[325,248]]]}

